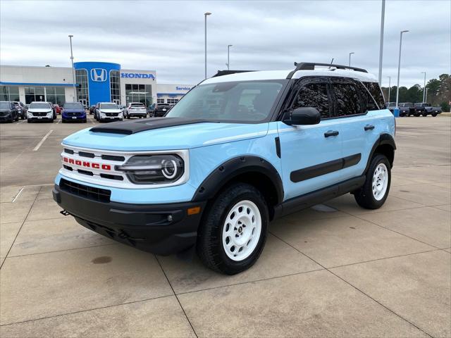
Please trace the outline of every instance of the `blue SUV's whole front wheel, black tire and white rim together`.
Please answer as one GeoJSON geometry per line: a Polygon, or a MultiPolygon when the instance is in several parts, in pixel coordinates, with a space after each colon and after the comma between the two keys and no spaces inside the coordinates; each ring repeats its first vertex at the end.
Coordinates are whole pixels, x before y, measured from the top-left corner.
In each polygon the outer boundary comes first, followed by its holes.
{"type": "Polygon", "coordinates": [[[269,220],[261,192],[249,184],[234,184],[205,212],[196,248],[201,261],[227,275],[254,265],[263,251],[269,220]]]}

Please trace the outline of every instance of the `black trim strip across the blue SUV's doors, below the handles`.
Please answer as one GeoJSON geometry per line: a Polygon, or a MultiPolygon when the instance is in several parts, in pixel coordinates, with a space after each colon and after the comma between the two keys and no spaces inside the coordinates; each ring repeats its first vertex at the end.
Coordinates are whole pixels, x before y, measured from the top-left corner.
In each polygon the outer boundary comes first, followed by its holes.
{"type": "Polygon", "coordinates": [[[291,182],[297,183],[321,175],[326,175],[328,173],[333,173],[334,171],[342,170],[352,165],[356,165],[357,163],[359,163],[361,158],[362,154],[354,154],[351,156],[338,158],[333,161],[311,165],[311,167],[292,171],[290,173],[290,180],[291,182]]]}

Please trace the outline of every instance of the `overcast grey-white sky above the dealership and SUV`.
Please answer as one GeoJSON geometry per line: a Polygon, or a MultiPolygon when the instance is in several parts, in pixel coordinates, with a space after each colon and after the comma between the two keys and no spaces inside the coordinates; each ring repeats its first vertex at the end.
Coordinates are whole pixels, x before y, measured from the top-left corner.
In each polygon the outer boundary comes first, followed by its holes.
{"type": "MultiPolygon", "coordinates": [[[[108,61],[156,70],[157,81],[196,84],[204,77],[204,12],[208,75],[226,69],[291,69],[294,61],[347,64],[378,73],[381,0],[374,1],[0,1],[0,63],[70,66],[108,61]]],[[[383,85],[422,85],[451,72],[451,1],[385,5],[383,85]]]]}

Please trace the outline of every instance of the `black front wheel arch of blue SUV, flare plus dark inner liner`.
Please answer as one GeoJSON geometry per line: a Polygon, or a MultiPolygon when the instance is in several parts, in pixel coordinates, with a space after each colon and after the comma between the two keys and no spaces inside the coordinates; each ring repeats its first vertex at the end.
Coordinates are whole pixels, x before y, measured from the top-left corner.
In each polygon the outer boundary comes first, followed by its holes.
{"type": "Polygon", "coordinates": [[[273,207],[283,201],[283,183],[276,168],[258,156],[239,156],[218,165],[199,184],[192,201],[212,200],[234,182],[251,184],[259,189],[268,203],[270,218],[273,218],[273,207]]]}

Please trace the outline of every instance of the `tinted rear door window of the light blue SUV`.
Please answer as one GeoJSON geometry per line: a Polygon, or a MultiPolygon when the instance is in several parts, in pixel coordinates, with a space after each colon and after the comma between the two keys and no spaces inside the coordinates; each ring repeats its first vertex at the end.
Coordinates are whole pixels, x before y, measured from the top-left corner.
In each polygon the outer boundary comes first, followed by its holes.
{"type": "Polygon", "coordinates": [[[332,87],[337,100],[337,117],[357,115],[365,112],[362,107],[362,101],[360,101],[359,92],[354,84],[334,83],[332,87]]]}

